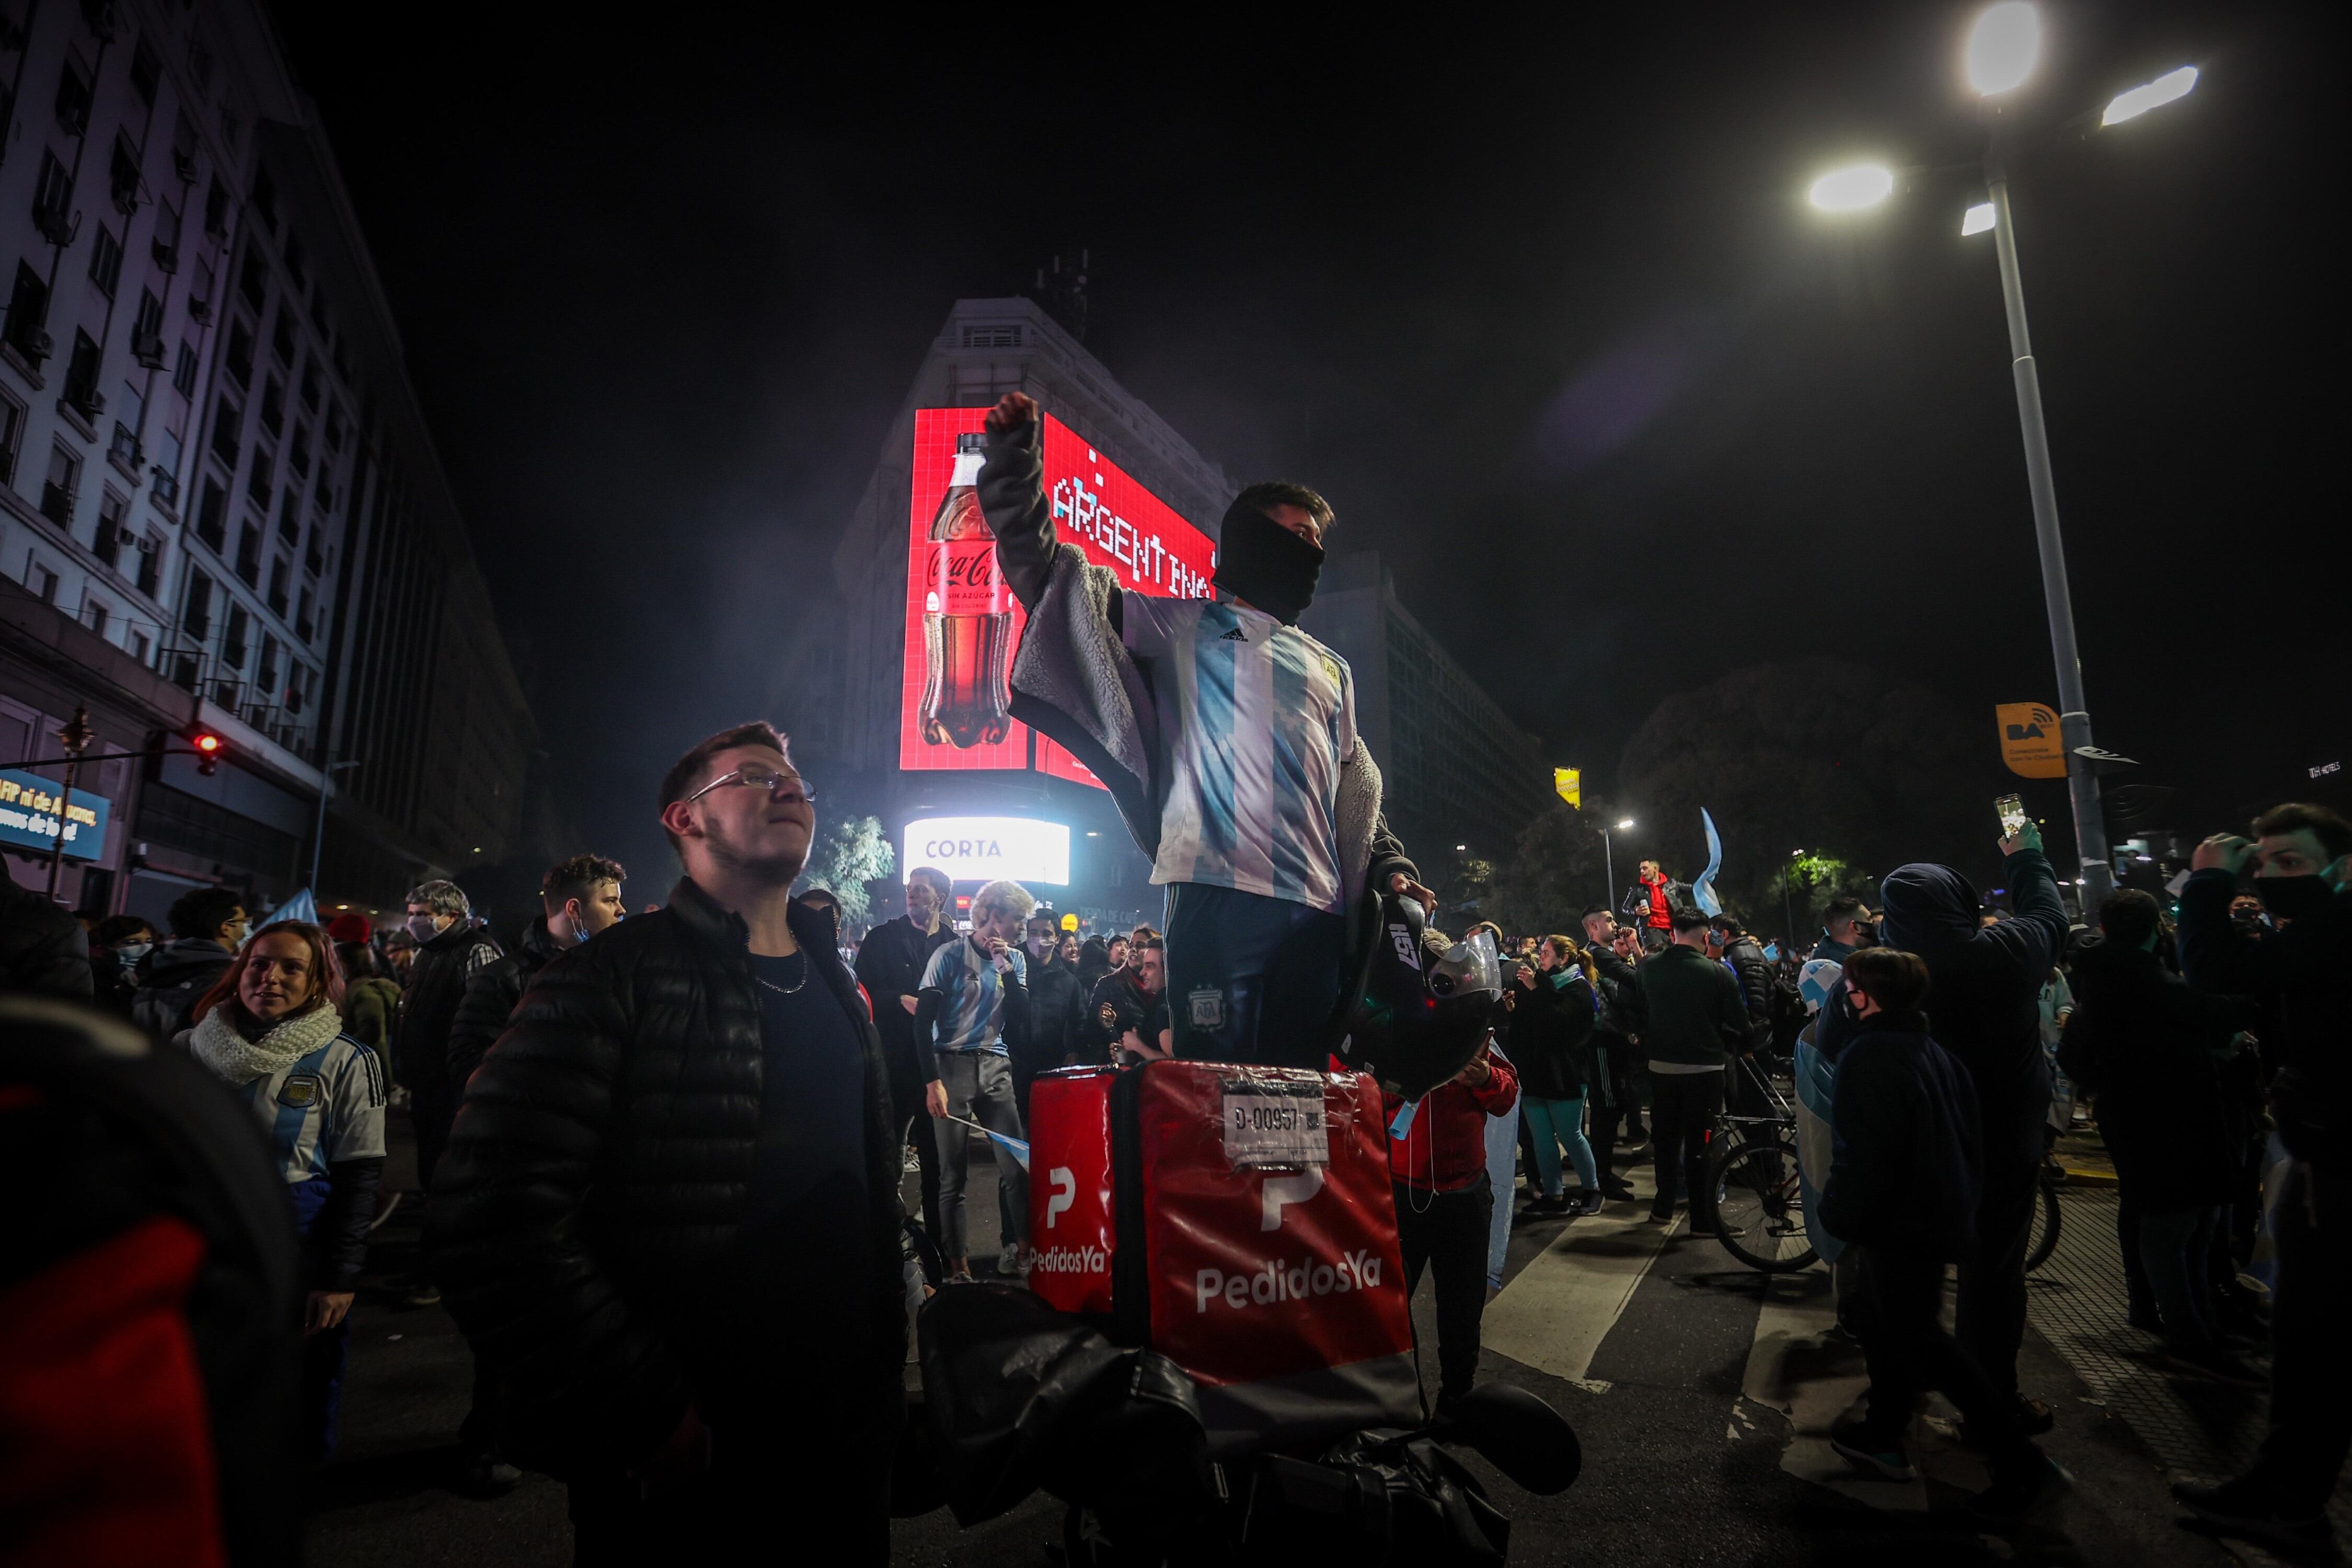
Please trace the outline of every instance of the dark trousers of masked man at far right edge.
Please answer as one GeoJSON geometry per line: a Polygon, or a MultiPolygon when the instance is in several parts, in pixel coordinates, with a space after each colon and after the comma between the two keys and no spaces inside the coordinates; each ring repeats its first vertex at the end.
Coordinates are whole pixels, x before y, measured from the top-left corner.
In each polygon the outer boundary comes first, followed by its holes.
{"type": "Polygon", "coordinates": [[[2352,1206],[2340,1166],[2288,1166],[2274,1218],[2279,1281],[2270,1309],[2270,1432],[2256,1474],[2281,1514],[2317,1514],[2352,1450],[2352,1293],[2345,1225],[2352,1206]]]}

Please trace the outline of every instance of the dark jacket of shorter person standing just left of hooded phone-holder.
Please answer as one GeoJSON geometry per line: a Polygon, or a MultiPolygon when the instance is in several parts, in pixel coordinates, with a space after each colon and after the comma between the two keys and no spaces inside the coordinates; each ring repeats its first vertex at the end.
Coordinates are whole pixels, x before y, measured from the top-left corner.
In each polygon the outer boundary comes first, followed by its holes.
{"type": "Polygon", "coordinates": [[[1830,1103],[1820,1222],[1856,1246],[1966,1258],[1976,1244],[1976,1093],[1919,1013],[1849,1020],[1830,1103]]]}

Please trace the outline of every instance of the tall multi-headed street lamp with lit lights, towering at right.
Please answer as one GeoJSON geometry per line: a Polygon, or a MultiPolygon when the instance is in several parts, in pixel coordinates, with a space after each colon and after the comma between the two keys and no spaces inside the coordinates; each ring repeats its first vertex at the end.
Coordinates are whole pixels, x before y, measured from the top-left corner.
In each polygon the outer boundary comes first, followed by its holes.
{"type": "MultiPolygon", "coordinates": [[[[2074,646],[2074,599],[2065,578],[2065,543],[2058,534],[2058,487],[2051,480],[2049,430],[2042,423],[2042,378],[2034,371],[2032,339],[2025,331],[2025,284],[2018,277],[2016,219],[2009,212],[2009,165],[2016,158],[2016,129],[2002,113],[2004,94],[2032,78],[2042,59],[2042,14],[2027,0],[2002,0],[1978,14],[1969,31],[1964,56],[1969,87],[1985,101],[1992,141],[1985,148],[1985,193],[1990,200],[1969,207],[1962,235],[1992,230],[1999,256],[2002,303],[2009,313],[2009,362],[2018,388],[2018,425],[2025,435],[2025,484],[2034,505],[2034,543],[2042,555],[2042,602],[2051,625],[2051,658],[2058,665],[2058,733],[2065,743],[2067,797],[2074,816],[2074,846],[2086,889],[2084,907],[2096,907],[2114,889],[2114,865],[2107,858],[2107,827],[2098,811],[2098,762],[2091,745],[2091,712],[2082,689],[2082,656],[2074,646]]],[[[2136,120],[2185,96],[2197,85],[2197,68],[2180,66],[2145,87],[2117,94],[2100,127],[2136,120]]],[[[2089,120],[2089,115],[2084,118],[2089,120]]],[[[1809,200],[1820,212],[1863,212],[1893,195],[1896,176],[1884,165],[1851,165],[1813,181],[1809,200]]]]}

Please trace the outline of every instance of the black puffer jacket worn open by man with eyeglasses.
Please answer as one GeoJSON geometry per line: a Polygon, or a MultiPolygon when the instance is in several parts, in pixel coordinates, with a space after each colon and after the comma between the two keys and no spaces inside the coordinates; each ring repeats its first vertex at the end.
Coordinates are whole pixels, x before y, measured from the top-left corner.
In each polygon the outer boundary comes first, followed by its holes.
{"type": "Polygon", "coordinates": [[[802,905],[788,919],[866,1058],[870,1239],[863,1267],[828,1258],[793,1288],[833,1293],[870,1335],[795,1342],[788,1293],[741,1302],[717,1288],[760,1154],[760,997],[741,917],[680,882],[670,907],[539,971],[466,1086],[440,1164],[428,1244],[449,1312],[503,1380],[520,1462],[614,1472],[689,1401],[708,1410],[743,1389],[783,1401],[779,1422],[811,1420],[776,1387],[795,1378],[870,1380],[896,1399],[906,1302],[882,1041],[830,922],[802,905]],[[757,1309],[776,1328],[764,1340],[739,1328],[757,1309]]]}

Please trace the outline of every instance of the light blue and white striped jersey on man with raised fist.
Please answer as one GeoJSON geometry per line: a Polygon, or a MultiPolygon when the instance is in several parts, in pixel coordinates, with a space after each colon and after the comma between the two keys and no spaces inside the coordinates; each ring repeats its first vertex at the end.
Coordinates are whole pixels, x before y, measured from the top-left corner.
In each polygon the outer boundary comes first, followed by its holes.
{"type": "Polygon", "coordinates": [[[1120,602],[1150,665],[1171,759],[1152,882],[1345,910],[1338,771],[1355,752],[1348,661],[1296,625],[1218,599],[1120,602]]]}

